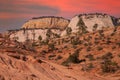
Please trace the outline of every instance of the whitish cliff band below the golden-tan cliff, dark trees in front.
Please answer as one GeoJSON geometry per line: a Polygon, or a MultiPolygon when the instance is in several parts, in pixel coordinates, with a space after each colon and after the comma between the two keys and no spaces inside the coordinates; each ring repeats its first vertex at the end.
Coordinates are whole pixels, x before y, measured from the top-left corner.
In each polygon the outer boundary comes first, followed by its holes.
{"type": "Polygon", "coordinates": [[[39,41],[46,40],[49,38],[55,38],[60,36],[60,29],[21,29],[18,31],[10,32],[10,39],[17,40],[19,42],[24,42],[26,40],[39,41]]]}

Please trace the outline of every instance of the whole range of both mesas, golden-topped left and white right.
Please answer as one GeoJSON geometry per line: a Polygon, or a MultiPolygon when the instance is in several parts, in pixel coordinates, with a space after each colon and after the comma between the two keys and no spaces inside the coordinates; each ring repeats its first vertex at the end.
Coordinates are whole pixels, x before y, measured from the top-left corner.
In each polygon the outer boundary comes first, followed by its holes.
{"type": "Polygon", "coordinates": [[[80,14],[69,20],[62,17],[38,17],[26,22],[20,30],[10,31],[10,38],[19,42],[26,40],[37,41],[65,36],[70,33],[87,33],[107,27],[120,25],[120,19],[113,16],[93,13],[80,14]]]}

